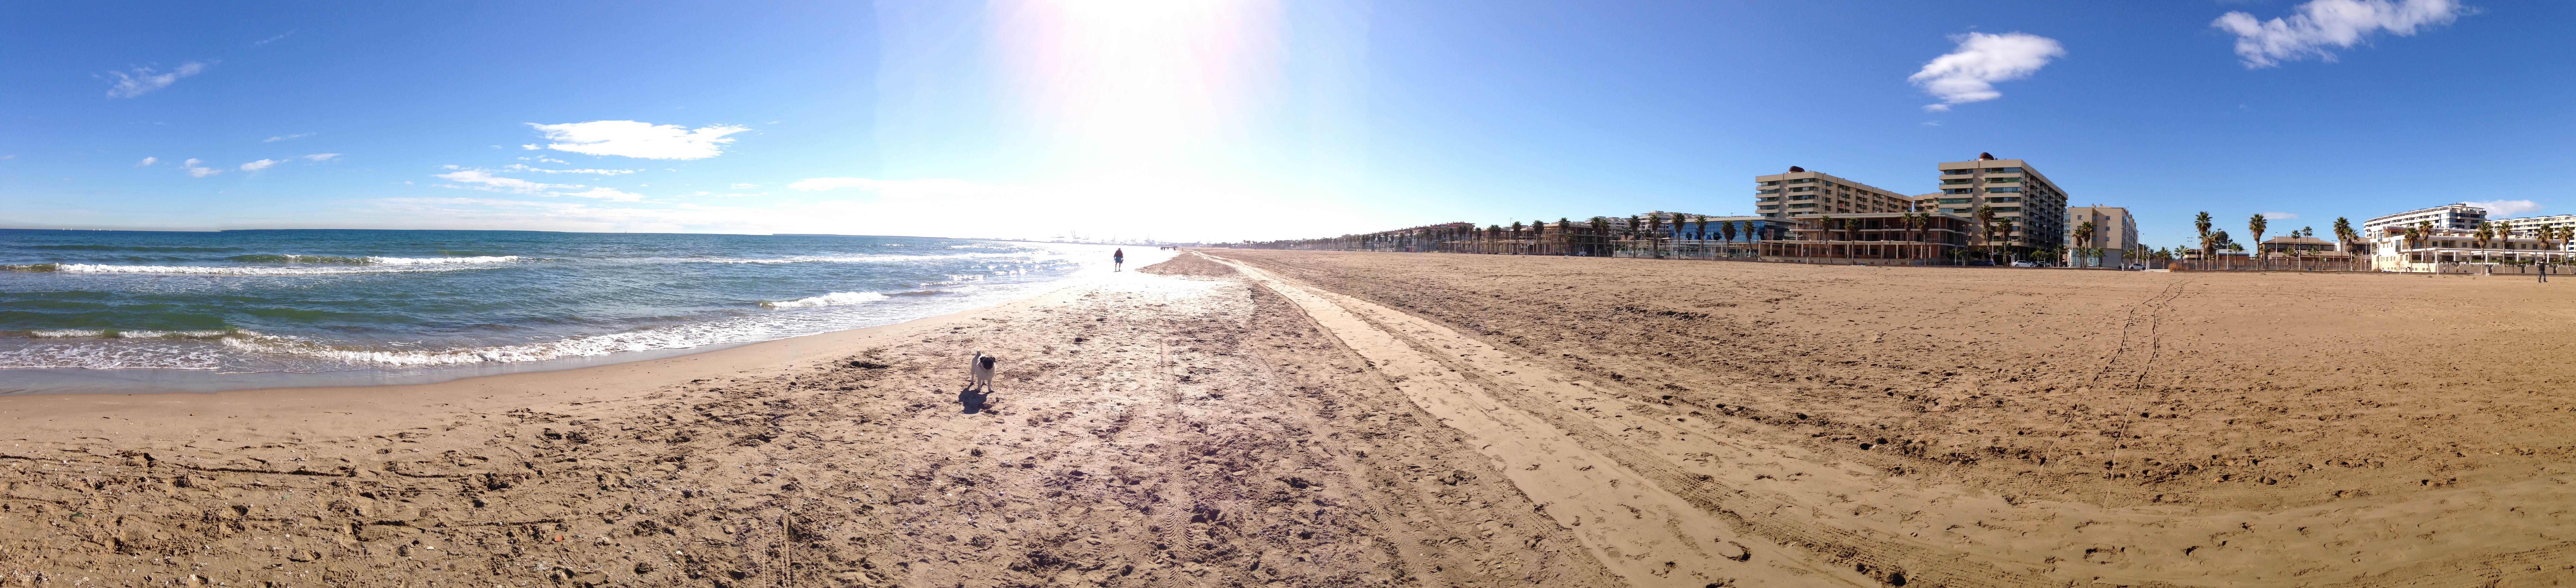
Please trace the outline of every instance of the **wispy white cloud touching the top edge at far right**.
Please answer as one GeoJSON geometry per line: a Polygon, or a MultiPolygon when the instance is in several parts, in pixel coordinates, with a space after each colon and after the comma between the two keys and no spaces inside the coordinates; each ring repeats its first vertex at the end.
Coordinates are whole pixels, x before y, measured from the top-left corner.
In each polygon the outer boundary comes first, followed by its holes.
{"type": "Polygon", "coordinates": [[[2257,21],[2226,13],[2210,26],[2236,34],[2236,57],[2246,70],[2275,67],[2306,57],[2334,62],[2334,49],[2362,44],[2378,31],[2414,36],[2424,26],[2445,26],[2473,13],[2458,0],[2313,0],[2287,18],[2257,21]]]}

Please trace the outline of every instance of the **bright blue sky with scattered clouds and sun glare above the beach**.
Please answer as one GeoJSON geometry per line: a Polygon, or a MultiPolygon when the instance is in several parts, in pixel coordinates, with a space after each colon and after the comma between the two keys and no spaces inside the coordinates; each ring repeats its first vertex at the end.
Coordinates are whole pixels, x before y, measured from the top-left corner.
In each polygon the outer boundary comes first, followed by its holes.
{"type": "Polygon", "coordinates": [[[13,3],[0,227],[1314,237],[1744,214],[1788,165],[1924,193],[1976,152],[2130,206],[2148,245],[2195,211],[2568,214],[2571,23],[2445,0],[13,3]]]}

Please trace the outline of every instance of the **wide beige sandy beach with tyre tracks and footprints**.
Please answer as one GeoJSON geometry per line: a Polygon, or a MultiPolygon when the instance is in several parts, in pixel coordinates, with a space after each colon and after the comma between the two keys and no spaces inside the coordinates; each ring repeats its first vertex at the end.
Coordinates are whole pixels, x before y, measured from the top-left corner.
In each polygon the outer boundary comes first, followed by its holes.
{"type": "Polygon", "coordinates": [[[2571,322],[2517,279],[1203,250],[618,366],[0,397],[0,585],[2563,585],[2571,322]]]}

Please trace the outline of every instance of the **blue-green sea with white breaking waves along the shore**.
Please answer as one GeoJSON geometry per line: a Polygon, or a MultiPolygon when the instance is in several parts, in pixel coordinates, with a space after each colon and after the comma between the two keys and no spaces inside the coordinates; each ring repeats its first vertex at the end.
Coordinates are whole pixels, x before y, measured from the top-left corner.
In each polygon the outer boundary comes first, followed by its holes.
{"type": "MultiPolygon", "coordinates": [[[[0,395],[397,384],[873,328],[1115,245],[438,230],[0,230],[0,395]]],[[[1126,248],[1131,266],[1170,253],[1126,248]]]]}

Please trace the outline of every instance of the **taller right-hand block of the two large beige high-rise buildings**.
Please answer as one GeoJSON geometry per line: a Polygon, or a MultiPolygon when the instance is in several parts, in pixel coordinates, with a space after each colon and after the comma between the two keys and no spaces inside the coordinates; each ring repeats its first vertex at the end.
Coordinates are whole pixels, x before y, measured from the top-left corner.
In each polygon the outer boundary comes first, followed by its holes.
{"type": "Polygon", "coordinates": [[[1976,160],[1940,162],[1940,211],[1976,217],[1976,206],[1994,209],[1996,222],[2012,222],[2012,235],[1999,235],[1994,245],[2017,250],[2066,248],[2066,191],[2022,160],[1996,160],[1978,152],[1976,160]]]}

